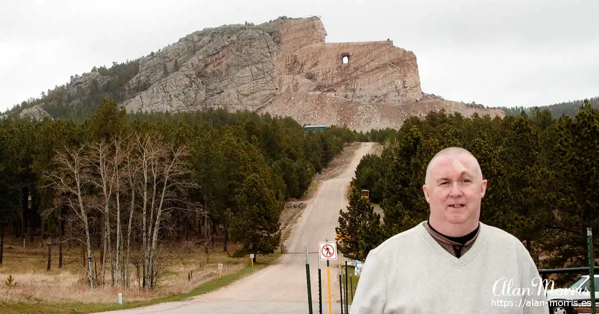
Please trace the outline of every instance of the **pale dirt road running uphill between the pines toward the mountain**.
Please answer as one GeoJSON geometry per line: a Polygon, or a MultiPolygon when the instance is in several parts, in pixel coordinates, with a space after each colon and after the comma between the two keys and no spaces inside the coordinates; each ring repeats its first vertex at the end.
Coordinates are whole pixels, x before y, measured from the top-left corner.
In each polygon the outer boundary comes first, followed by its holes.
{"type": "MultiPolygon", "coordinates": [[[[347,188],[362,156],[370,153],[373,143],[362,143],[340,175],[322,182],[316,194],[305,203],[295,229],[286,243],[288,254],[279,263],[268,266],[225,288],[200,295],[189,301],[157,304],[139,309],[107,313],[308,313],[304,246],[310,260],[310,278],[314,313],[318,313],[318,243],[335,239],[339,210],[347,206],[347,188]]],[[[340,313],[340,259],[331,261],[331,309],[340,313]]],[[[322,311],[328,313],[326,262],[322,267],[322,311]]]]}

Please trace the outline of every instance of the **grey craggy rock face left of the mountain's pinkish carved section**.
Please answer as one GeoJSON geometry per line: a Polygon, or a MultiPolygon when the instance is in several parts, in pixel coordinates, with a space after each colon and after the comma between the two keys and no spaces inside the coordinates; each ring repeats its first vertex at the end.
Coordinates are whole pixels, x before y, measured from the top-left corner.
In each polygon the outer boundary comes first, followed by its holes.
{"type": "Polygon", "coordinates": [[[258,108],[276,94],[272,54],[277,44],[257,26],[223,26],[192,33],[140,62],[149,89],[123,102],[128,112],[258,108]]]}

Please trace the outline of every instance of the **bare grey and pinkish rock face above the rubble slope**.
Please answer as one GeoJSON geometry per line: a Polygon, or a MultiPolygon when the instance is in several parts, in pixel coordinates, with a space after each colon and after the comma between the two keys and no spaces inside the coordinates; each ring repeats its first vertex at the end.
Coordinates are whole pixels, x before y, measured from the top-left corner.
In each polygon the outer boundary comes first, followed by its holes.
{"type": "Polygon", "coordinates": [[[141,60],[129,89],[138,81],[149,81],[150,88],[123,105],[130,112],[255,110],[286,92],[321,92],[355,102],[422,97],[411,51],[389,40],[331,44],[325,36],[315,17],[192,33],[141,60]]]}

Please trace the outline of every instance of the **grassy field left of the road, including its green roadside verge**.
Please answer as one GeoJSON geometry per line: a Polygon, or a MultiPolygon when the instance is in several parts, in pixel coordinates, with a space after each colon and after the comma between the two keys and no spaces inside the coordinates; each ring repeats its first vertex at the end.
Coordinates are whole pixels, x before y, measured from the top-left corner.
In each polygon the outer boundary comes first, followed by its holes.
{"type": "MultiPolygon", "coordinates": [[[[52,267],[48,271],[47,247],[41,248],[39,242],[26,242],[23,249],[22,240],[8,237],[0,266],[0,313],[89,313],[182,300],[225,286],[276,263],[280,256],[279,252],[258,255],[252,267],[249,256],[234,256],[237,249],[234,243],[228,243],[228,252],[223,252],[222,241],[216,240],[214,246],[208,246],[208,254],[198,246],[191,242],[161,246],[159,252],[165,256],[165,262],[154,291],[139,288],[137,270],[132,264],[130,288],[111,286],[107,267],[106,285],[90,289],[83,266],[83,245],[63,247],[62,268],[58,267],[58,248],[53,247],[52,267]],[[220,279],[219,263],[223,264],[220,279]],[[122,306],[117,306],[119,293],[123,295],[122,306]]],[[[93,254],[101,256],[98,249],[93,254]]]]}

